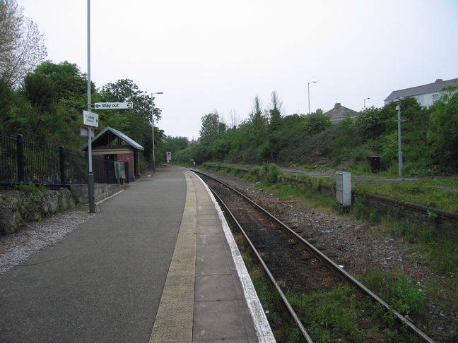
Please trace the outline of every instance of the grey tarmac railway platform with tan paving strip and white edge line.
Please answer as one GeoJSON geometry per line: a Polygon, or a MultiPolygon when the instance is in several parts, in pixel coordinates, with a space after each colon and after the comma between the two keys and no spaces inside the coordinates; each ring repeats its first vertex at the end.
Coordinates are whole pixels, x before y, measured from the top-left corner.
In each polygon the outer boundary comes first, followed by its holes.
{"type": "Polygon", "coordinates": [[[1,342],[275,342],[228,224],[181,167],[0,274],[1,342]]]}

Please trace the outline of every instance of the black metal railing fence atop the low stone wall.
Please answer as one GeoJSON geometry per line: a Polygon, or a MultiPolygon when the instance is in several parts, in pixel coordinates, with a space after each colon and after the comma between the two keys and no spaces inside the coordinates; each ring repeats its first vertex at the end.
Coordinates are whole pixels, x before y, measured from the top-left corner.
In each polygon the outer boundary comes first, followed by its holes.
{"type": "MultiPolygon", "coordinates": [[[[97,183],[116,183],[112,160],[93,156],[93,174],[97,183]]],[[[0,183],[33,182],[45,186],[63,186],[88,182],[88,157],[64,147],[52,148],[27,142],[22,135],[0,135],[0,183]]]]}

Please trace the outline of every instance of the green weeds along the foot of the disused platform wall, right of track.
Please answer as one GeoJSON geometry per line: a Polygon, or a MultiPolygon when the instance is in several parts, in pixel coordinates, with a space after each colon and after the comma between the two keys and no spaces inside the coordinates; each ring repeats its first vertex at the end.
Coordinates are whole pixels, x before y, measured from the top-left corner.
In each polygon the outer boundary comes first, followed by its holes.
{"type": "MultiPolygon", "coordinates": [[[[241,176],[233,172],[233,169],[230,173],[218,172],[218,174],[241,176]]],[[[319,210],[335,211],[334,198],[317,193],[310,188],[292,186],[286,182],[267,185],[264,182],[257,182],[257,178],[251,174],[245,174],[243,179],[255,182],[255,186],[262,186],[264,191],[282,200],[303,200],[307,205],[317,207],[319,210]]],[[[394,272],[369,271],[360,275],[363,284],[367,284],[397,311],[413,318],[416,325],[432,337],[445,340],[457,337],[458,328],[449,325],[444,329],[440,327],[444,323],[438,325],[435,317],[443,316],[442,311],[458,313],[458,238],[439,232],[426,224],[414,224],[403,219],[377,215],[372,207],[365,203],[353,205],[349,216],[370,223],[372,231],[377,236],[391,235],[413,243],[411,253],[415,254],[410,258],[416,260],[419,265],[428,266],[428,269],[433,268],[433,272],[429,275],[409,268],[394,272]],[[435,314],[431,316],[430,313],[435,314]]],[[[393,340],[389,332],[385,332],[384,335],[388,340],[393,340]]],[[[280,340],[280,342],[287,341],[280,340]]]]}

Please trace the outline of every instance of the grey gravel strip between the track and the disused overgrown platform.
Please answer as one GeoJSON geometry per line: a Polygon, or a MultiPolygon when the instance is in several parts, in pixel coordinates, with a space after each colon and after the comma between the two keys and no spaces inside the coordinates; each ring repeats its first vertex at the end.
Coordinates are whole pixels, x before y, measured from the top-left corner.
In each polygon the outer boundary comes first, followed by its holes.
{"type": "MultiPolygon", "coordinates": [[[[205,171],[206,174],[211,174],[205,171]]],[[[428,283],[432,276],[446,282],[445,276],[436,272],[428,263],[421,263],[422,256],[413,253],[413,244],[383,231],[380,227],[359,222],[345,215],[318,210],[303,201],[281,203],[276,196],[266,193],[259,183],[243,179],[213,174],[249,198],[261,204],[291,229],[303,231],[301,234],[317,248],[332,258],[353,275],[364,275],[368,270],[404,270],[414,282],[428,283]],[[278,203],[275,203],[278,201],[278,203]]],[[[451,277],[456,277],[452,275],[451,277]]],[[[441,301],[442,302],[442,301],[441,301]]],[[[445,303],[428,301],[425,311],[412,318],[426,320],[435,326],[430,335],[437,342],[456,342],[458,335],[457,305],[452,308],[445,303]],[[454,308],[454,309],[453,309],[454,308]],[[446,333],[448,332],[448,334],[446,333]],[[454,332],[454,338],[445,338],[454,332]],[[445,334],[445,335],[444,335],[445,334]],[[443,338],[442,338],[443,337],[443,338]]]]}

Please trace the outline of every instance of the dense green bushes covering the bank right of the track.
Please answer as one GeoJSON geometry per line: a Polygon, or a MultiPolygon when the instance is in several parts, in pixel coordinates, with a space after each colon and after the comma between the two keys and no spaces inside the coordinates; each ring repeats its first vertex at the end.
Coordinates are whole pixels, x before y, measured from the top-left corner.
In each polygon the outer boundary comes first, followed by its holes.
{"type": "MultiPolygon", "coordinates": [[[[381,157],[387,174],[397,174],[396,104],[371,107],[331,124],[322,112],[281,116],[278,95],[262,109],[258,97],[249,119],[228,127],[218,113],[202,118],[199,143],[175,157],[187,162],[319,164],[368,172],[366,159],[381,157]]],[[[405,175],[430,175],[458,170],[458,92],[448,87],[431,107],[413,98],[401,102],[405,175]]]]}

